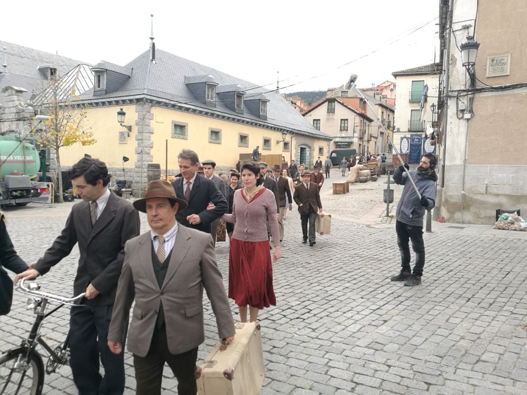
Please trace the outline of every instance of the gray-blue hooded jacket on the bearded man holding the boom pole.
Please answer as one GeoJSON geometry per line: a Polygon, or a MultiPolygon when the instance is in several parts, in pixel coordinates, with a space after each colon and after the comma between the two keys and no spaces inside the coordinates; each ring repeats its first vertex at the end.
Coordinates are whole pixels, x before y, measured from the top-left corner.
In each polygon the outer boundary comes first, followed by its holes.
{"type": "Polygon", "coordinates": [[[437,181],[437,176],[435,172],[430,170],[424,172],[411,171],[410,175],[419,193],[426,197],[428,205],[426,208],[421,205],[421,200],[419,200],[412,182],[408,181],[408,174],[397,167],[394,172],[394,181],[396,184],[404,185],[404,189],[401,199],[399,199],[399,204],[397,204],[395,218],[397,221],[407,225],[423,226],[425,211],[432,210],[435,205],[435,182],[437,181]]]}

